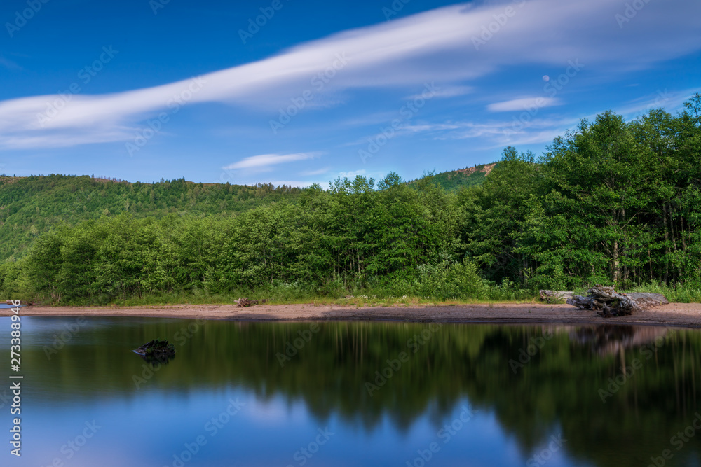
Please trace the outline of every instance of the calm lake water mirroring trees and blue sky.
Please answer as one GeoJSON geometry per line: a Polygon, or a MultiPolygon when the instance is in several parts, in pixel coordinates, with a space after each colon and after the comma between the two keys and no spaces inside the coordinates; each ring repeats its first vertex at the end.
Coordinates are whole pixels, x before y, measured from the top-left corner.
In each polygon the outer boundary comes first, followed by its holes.
{"type": "Polygon", "coordinates": [[[22,319],[1,465],[701,465],[697,330],[84,320],[22,319]]]}

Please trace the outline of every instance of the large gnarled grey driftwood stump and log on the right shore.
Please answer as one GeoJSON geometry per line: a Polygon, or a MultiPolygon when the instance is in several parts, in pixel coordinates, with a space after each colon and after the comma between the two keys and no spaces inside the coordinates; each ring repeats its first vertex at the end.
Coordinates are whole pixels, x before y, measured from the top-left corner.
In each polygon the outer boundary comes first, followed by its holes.
{"type": "Polygon", "coordinates": [[[659,293],[618,293],[613,287],[598,285],[590,288],[586,297],[574,295],[566,302],[579,309],[600,310],[597,314],[604,318],[627,316],[645,308],[669,303],[667,298],[659,293]]]}

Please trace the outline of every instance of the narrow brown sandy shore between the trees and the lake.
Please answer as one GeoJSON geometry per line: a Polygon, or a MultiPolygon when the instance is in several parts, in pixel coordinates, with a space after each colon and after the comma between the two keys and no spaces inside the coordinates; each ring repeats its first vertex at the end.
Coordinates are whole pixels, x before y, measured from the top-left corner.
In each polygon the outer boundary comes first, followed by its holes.
{"type": "MultiPolygon", "coordinates": [[[[24,316],[154,316],[183,319],[233,319],[237,321],[445,321],[454,323],[625,323],[701,328],[701,304],[672,303],[633,316],[603,319],[595,312],[570,305],[503,303],[495,305],[171,305],[158,307],[24,307],[24,316]]],[[[0,316],[9,316],[2,309],[0,316]]]]}

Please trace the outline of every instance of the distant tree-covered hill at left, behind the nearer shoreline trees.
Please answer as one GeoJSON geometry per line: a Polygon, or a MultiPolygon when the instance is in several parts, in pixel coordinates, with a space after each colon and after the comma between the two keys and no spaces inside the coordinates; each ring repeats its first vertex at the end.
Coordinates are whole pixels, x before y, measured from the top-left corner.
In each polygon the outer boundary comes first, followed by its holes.
{"type": "Polygon", "coordinates": [[[294,200],[300,188],[94,179],[90,176],[0,176],[0,260],[22,256],[35,237],[53,225],[128,212],[136,217],[170,213],[231,215],[257,206],[294,200]]]}

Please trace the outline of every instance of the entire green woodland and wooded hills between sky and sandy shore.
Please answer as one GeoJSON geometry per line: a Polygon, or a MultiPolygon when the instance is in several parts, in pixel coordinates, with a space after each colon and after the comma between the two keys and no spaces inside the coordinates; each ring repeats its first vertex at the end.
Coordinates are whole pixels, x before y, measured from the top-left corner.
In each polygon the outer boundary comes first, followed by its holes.
{"type": "Polygon", "coordinates": [[[61,304],[518,300],[607,284],[699,301],[700,155],[697,94],[676,116],[581,120],[538,157],[505,148],[489,175],[460,172],[480,180],[459,189],[447,174],[357,176],[328,190],[12,178],[0,290],[61,304]],[[41,183],[58,181],[43,195],[41,183]]]}

